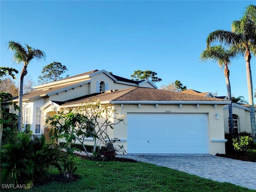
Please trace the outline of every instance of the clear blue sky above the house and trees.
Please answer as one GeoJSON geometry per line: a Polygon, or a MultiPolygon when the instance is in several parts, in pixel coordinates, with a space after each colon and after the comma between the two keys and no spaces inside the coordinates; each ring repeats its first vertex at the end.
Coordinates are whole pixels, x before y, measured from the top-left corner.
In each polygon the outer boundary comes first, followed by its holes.
{"type": "MultiPolygon", "coordinates": [[[[61,62],[64,76],[105,69],[131,78],[134,70],[152,70],[162,82],[175,80],[200,92],[227,94],[223,71],[200,62],[207,35],[231,30],[254,1],[0,1],[0,66],[12,63],[7,42],[14,40],[46,53],[46,61],[28,67],[37,84],[42,68],[61,62]]],[[[251,60],[256,87],[256,60],[251,60]]],[[[248,100],[244,58],[230,66],[232,95],[248,100]]],[[[256,100],[254,100],[255,102],[256,100]]]]}

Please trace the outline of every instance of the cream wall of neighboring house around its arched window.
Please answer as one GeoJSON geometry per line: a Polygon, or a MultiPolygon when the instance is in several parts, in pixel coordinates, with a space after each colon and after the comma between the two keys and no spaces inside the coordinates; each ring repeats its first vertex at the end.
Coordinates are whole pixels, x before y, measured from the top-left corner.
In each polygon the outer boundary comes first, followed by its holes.
{"type": "MultiPolygon", "coordinates": [[[[229,133],[229,128],[228,128],[228,109],[224,109],[224,128],[225,132],[229,133]]],[[[251,129],[251,120],[250,120],[250,112],[238,107],[232,108],[232,113],[238,116],[238,121],[239,121],[239,132],[246,131],[246,132],[252,132],[251,129]]],[[[256,114],[255,114],[256,116],[256,114]]]]}

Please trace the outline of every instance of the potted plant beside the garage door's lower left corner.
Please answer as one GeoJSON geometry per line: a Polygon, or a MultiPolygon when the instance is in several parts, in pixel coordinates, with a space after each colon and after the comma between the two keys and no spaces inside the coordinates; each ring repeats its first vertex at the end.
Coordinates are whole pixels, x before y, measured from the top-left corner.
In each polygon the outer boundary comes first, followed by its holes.
{"type": "Polygon", "coordinates": [[[113,158],[116,156],[117,152],[122,152],[123,154],[126,153],[124,150],[124,146],[116,145],[114,146],[113,143],[116,141],[120,141],[118,138],[110,139],[106,141],[106,151],[103,152],[104,157],[113,158]]]}

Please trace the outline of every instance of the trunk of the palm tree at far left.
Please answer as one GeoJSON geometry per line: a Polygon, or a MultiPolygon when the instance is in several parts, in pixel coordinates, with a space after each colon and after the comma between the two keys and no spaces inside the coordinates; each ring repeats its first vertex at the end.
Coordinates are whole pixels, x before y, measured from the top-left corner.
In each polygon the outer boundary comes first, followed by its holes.
{"type": "Polygon", "coordinates": [[[23,80],[24,76],[27,74],[27,65],[24,64],[20,73],[20,86],[19,86],[19,107],[20,111],[18,113],[18,131],[22,132],[22,96],[23,96],[23,80]]]}

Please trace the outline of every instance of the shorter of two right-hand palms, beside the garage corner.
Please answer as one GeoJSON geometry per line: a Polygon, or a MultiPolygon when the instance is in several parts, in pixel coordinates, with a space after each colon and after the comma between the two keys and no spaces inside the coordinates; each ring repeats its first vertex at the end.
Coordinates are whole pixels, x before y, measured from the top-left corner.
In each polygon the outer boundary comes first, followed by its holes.
{"type": "MultiPolygon", "coordinates": [[[[221,69],[224,68],[224,75],[226,77],[226,86],[228,91],[228,100],[231,100],[231,86],[230,86],[230,80],[229,80],[229,69],[228,65],[230,65],[230,60],[232,58],[235,58],[237,55],[237,50],[234,47],[231,47],[230,49],[225,49],[221,45],[218,46],[212,46],[206,48],[200,55],[201,61],[206,60],[214,60],[218,62],[221,69]]],[[[232,104],[230,103],[228,105],[228,111],[229,111],[229,121],[230,121],[230,134],[233,135],[233,114],[232,114],[232,104]]]]}

